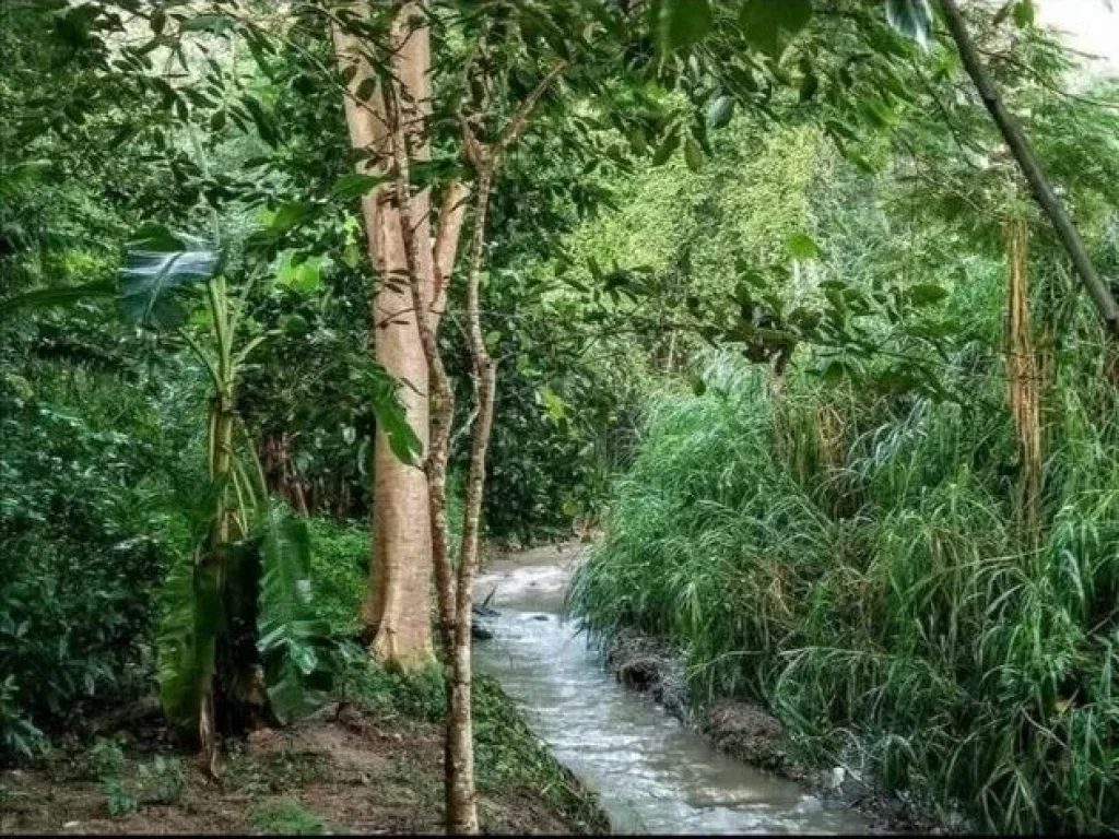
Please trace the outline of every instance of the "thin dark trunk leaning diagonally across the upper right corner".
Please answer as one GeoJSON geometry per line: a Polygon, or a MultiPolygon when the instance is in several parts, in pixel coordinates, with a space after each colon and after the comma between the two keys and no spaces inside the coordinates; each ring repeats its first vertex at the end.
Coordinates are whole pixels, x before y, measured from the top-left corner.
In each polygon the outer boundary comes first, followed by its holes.
{"type": "Polygon", "coordinates": [[[1006,140],[1006,144],[1017,161],[1022,175],[1029,183],[1034,199],[1056,230],[1057,237],[1072,260],[1072,264],[1075,266],[1081,282],[1088,289],[1088,293],[1092,295],[1096,308],[1099,309],[1100,317],[1103,318],[1103,323],[1108,331],[1112,336],[1119,336],[1119,305],[1116,304],[1115,298],[1111,295],[1107,284],[1096,272],[1096,266],[1088,255],[1088,248],[1084,247],[1084,243],[1081,241],[1075,225],[1069,218],[1064,206],[1050,186],[1042,162],[1029,144],[1029,140],[1026,139],[1022,128],[998,95],[998,88],[995,87],[990,74],[987,73],[987,68],[979,57],[979,50],[976,49],[975,43],[971,40],[971,35],[968,32],[967,23],[963,21],[963,16],[960,13],[956,0],[940,0],[940,8],[944,13],[944,22],[948,25],[948,30],[951,32],[952,39],[960,51],[963,66],[979,91],[979,96],[982,98],[987,112],[1006,140]]]}

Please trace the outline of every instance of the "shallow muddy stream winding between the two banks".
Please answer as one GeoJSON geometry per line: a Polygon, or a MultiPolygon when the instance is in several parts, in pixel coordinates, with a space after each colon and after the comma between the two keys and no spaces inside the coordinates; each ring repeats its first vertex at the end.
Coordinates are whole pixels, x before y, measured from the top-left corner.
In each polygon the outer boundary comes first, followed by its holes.
{"type": "Polygon", "coordinates": [[[577,547],[493,562],[478,581],[500,616],[476,668],[525,706],[556,757],[595,790],[615,832],[865,833],[788,781],[716,752],[647,697],[623,689],[563,620],[577,547]]]}

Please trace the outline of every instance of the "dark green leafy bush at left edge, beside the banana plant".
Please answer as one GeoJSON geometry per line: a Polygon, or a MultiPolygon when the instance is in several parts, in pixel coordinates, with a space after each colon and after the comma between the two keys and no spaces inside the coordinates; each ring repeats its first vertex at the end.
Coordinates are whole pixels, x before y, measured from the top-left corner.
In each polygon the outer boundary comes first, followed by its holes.
{"type": "Polygon", "coordinates": [[[163,501],[170,453],[147,398],[98,393],[105,377],[79,375],[86,380],[67,387],[50,366],[37,369],[34,386],[15,374],[0,384],[0,736],[9,754],[37,745],[36,729],[56,733],[145,689],[148,604],[184,529],[163,501]],[[120,416],[130,433],[116,430],[120,416]]]}

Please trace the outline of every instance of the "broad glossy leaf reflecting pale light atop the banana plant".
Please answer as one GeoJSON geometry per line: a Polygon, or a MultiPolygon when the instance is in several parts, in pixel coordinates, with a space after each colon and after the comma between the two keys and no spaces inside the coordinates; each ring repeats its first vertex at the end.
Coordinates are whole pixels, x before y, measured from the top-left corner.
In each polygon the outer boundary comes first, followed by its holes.
{"type": "Polygon", "coordinates": [[[182,295],[208,282],[219,262],[220,254],[200,239],[145,225],[128,245],[120,275],[121,310],[141,326],[179,326],[187,318],[182,295]]]}

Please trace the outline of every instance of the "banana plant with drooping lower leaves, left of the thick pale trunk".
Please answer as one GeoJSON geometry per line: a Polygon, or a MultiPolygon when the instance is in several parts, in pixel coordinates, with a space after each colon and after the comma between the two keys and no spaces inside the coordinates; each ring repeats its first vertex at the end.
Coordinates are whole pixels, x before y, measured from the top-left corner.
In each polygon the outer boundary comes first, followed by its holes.
{"type": "Polygon", "coordinates": [[[147,226],[129,245],[119,290],[124,315],[178,336],[210,384],[209,486],[191,562],[167,582],[158,667],[164,711],[194,734],[214,774],[223,733],[313,707],[329,681],[330,643],[314,616],[305,525],[267,498],[236,413],[238,374],[270,336],[242,334],[263,266],[236,286],[225,268],[220,249],[147,226]],[[199,302],[205,317],[190,324],[199,302]]]}

